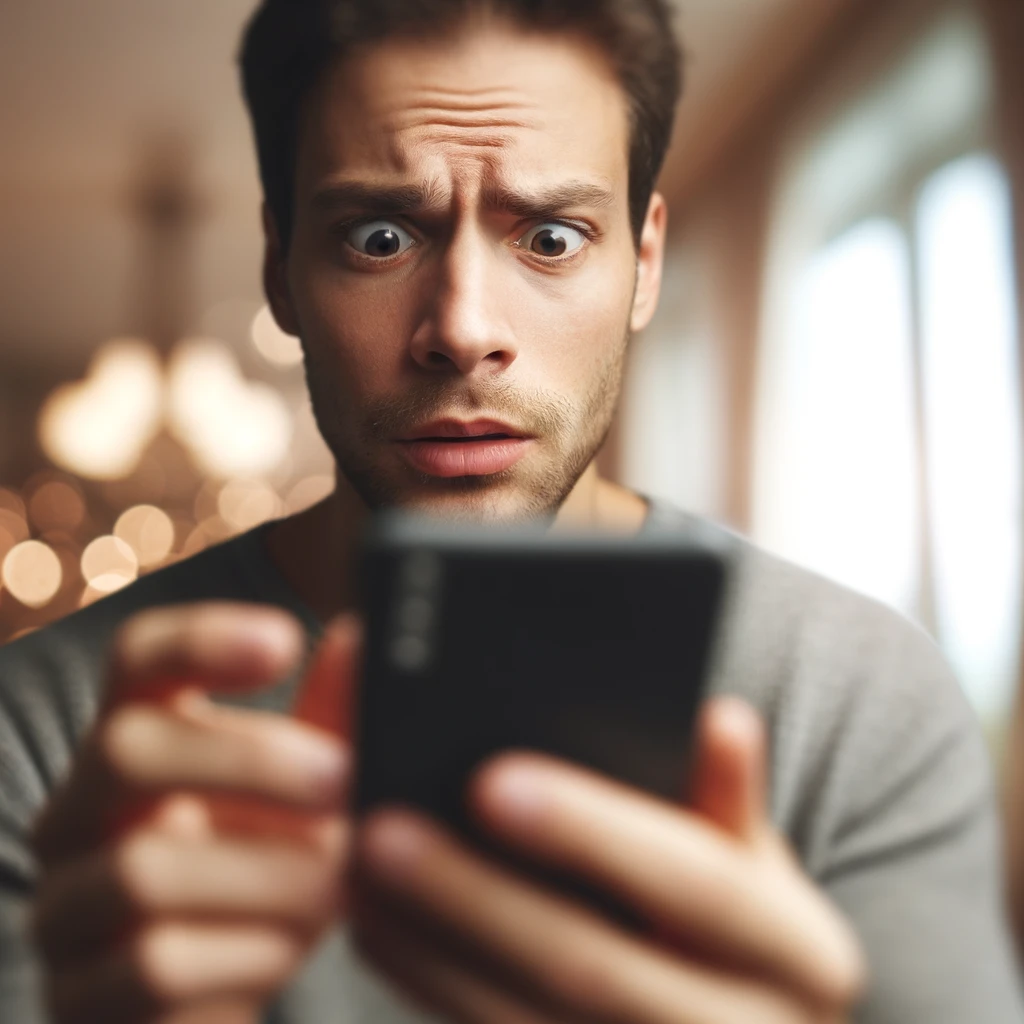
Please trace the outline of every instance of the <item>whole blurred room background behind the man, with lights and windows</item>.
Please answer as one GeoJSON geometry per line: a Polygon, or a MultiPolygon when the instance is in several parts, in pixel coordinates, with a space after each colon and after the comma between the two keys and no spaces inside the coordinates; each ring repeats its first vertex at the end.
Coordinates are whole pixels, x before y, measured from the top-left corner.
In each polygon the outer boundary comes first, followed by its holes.
{"type": "MultiPolygon", "coordinates": [[[[0,643],[332,486],[260,294],[252,6],[0,7],[0,643]]],[[[678,7],[665,291],[603,467],[915,620],[997,744],[1024,4],[678,7]]]]}

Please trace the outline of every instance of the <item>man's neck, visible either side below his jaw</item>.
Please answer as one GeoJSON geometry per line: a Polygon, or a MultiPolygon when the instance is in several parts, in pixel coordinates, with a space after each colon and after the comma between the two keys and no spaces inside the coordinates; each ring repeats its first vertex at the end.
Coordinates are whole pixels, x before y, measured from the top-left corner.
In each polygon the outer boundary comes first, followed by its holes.
{"type": "MultiPolygon", "coordinates": [[[[592,463],[555,517],[552,529],[635,534],[647,504],[602,479],[592,463]]],[[[330,498],[283,519],[267,534],[270,559],[317,618],[327,623],[355,607],[355,558],[370,511],[340,476],[330,498]]]]}

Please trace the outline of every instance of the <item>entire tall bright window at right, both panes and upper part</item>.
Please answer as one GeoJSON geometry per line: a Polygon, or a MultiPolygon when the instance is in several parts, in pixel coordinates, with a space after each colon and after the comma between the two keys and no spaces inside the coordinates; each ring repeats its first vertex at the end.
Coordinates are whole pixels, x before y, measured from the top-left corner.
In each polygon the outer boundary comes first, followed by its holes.
{"type": "Polygon", "coordinates": [[[997,726],[1021,644],[1021,376],[988,76],[954,8],[794,145],[754,534],[915,617],[997,726]]]}

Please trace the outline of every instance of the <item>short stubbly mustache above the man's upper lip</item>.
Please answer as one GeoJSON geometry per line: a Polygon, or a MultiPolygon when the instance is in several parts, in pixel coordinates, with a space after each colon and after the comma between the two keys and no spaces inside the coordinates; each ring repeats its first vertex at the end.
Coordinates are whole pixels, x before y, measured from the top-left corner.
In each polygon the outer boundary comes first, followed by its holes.
{"type": "Polygon", "coordinates": [[[560,395],[506,381],[444,380],[425,381],[403,394],[369,401],[364,412],[364,437],[381,441],[439,419],[500,420],[523,433],[548,436],[572,422],[574,409],[560,395]]]}

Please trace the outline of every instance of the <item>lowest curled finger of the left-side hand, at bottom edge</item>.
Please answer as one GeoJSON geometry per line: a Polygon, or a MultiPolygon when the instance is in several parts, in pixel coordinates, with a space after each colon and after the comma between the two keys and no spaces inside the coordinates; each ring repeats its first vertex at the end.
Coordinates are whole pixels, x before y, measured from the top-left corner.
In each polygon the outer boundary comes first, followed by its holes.
{"type": "Polygon", "coordinates": [[[206,1001],[259,1004],[303,954],[294,936],[269,928],[155,926],[112,956],[54,975],[51,1011],[59,1024],[96,1024],[151,1021],[206,1001]]]}

